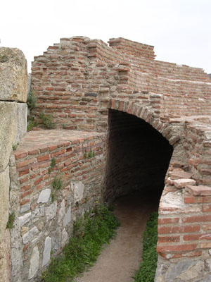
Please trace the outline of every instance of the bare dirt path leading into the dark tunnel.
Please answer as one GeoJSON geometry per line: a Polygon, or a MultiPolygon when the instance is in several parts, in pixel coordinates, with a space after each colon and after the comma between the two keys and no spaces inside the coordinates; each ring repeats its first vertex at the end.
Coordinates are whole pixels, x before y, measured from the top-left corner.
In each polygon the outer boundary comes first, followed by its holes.
{"type": "Polygon", "coordinates": [[[141,262],[141,234],[148,215],[158,210],[158,197],[151,199],[133,194],[121,197],[115,204],[115,216],[121,226],[96,264],[76,282],[132,282],[141,262]]]}

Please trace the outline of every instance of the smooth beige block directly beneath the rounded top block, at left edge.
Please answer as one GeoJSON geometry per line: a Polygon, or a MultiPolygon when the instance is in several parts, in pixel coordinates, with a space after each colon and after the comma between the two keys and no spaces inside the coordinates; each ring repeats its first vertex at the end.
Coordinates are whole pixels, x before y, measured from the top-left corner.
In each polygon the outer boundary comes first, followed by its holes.
{"type": "Polygon", "coordinates": [[[4,171],[16,145],[18,106],[14,102],[0,102],[0,171],[4,171]]]}

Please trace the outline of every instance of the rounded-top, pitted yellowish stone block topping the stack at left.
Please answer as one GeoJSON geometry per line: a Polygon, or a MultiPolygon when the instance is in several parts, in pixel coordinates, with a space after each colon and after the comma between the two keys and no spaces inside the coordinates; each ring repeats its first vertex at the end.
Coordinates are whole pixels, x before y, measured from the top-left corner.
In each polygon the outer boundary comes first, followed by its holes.
{"type": "Polygon", "coordinates": [[[26,102],[27,61],[16,48],[0,48],[0,100],[26,102]]]}

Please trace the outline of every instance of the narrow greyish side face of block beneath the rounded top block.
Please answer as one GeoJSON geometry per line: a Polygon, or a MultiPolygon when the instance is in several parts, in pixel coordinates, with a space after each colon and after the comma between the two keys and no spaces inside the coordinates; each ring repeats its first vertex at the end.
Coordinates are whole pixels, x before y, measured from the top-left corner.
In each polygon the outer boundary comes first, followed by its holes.
{"type": "Polygon", "coordinates": [[[27,132],[27,104],[18,103],[18,135],[16,142],[19,143],[27,132]]]}

